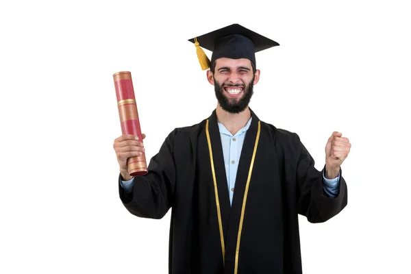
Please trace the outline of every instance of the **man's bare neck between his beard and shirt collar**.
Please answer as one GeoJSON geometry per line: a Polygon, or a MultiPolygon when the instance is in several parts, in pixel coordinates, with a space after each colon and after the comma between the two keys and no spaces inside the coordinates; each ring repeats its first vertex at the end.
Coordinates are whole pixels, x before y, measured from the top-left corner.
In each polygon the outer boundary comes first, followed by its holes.
{"type": "Polygon", "coordinates": [[[225,128],[233,135],[236,135],[236,133],[240,129],[242,129],[242,127],[245,127],[245,125],[247,125],[247,122],[251,118],[251,112],[248,106],[242,112],[233,114],[223,110],[220,105],[217,105],[216,115],[217,121],[219,121],[219,123],[222,123],[225,128]]]}

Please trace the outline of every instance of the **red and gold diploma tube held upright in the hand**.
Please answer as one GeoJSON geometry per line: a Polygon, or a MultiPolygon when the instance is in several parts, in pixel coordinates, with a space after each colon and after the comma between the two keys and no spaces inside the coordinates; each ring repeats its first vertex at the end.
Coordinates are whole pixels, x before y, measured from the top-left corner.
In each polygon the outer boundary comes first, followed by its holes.
{"type": "MultiPolygon", "coordinates": [[[[114,86],[116,87],[117,104],[119,106],[121,132],[123,134],[138,136],[139,141],[142,142],[132,73],[129,71],[121,71],[114,73],[113,77],[114,86]]],[[[128,158],[127,167],[130,176],[145,175],[148,172],[145,153],[143,152],[141,156],[128,158]]]]}

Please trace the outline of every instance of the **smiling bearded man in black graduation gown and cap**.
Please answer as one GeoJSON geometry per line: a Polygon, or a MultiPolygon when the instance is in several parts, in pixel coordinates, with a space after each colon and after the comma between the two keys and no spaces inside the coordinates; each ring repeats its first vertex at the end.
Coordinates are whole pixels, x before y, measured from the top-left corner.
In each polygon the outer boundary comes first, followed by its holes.
{"type": "Polygon", "coordinates": [[[334,132],[323,171],[295,133],[264,123],[249,108],[260,79],[255,52],[278,45],[234,24],[194,40],[213,51],[207,79],[218,105],[197,125],[177,128],[149,164],[130,177],[127,158],[142,155],[134,136],[114,141],[119,192],[129,212],[160,219],[170,208],[169,273],[301,273],[298,214],[327,221],[347,205],[340,165],[350,150],[334,132]]]}

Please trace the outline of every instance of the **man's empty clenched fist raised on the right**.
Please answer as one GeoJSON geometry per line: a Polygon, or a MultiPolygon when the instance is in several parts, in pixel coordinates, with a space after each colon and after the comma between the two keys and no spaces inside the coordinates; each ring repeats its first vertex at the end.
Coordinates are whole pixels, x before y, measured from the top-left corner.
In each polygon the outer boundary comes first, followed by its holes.
{"type": "Polygon", "coordinates": [[[334,179],[340,173],[340,165],[347,158],[351,143],[340,132],[333,132],[325,145],[325,177],[334,179]]]}

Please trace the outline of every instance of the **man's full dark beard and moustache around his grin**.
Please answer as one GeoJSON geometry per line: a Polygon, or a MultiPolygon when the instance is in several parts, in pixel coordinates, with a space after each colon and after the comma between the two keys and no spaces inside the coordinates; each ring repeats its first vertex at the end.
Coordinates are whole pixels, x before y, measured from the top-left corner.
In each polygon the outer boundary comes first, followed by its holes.
{"type": "Polygon", "coordinates": [[[214,91],[216,92],[216,98],[219,101],[219,104],[223,110],[229,113],[237,114],[245,110],[247,106],[250,103],[251,97],[253,96],[253,82],[254,82],[254,77],[251,79],[249,84],[245,86],[244,84],[220,84],[219,82],[216,81],[214,78],[214,91]],[[242,87],[242,92],[244,95],[242,95],[241,99],[235,99],[235,98],[228,98],[227,95],[225,95],[225,90],[223,87],[242,87]]]}

